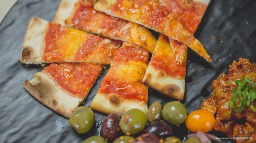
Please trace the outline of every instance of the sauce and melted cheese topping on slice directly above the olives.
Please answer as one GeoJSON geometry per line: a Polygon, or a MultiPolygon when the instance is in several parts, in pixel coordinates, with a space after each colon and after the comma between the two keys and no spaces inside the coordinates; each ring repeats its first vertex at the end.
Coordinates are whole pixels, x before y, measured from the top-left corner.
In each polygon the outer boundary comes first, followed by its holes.
{"type": "Polygon", "coordinates": [[[147,86],[142,83],[148,64],[148,52],[124,43],[102,81],[99,92],[116,93],[124,99],[147,101],[147,86]]]}

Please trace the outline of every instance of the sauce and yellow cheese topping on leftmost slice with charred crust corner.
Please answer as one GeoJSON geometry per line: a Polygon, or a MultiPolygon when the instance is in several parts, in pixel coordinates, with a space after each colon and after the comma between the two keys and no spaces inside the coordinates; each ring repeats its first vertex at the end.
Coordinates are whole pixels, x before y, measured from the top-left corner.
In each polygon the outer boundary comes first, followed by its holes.
{"type": "Polygon", "coordinates": [[[104,64],[111,63],[115,49],[122,43],[52,23],[45,42],[44,60],[48,62],[94,60],[104,64]]]}

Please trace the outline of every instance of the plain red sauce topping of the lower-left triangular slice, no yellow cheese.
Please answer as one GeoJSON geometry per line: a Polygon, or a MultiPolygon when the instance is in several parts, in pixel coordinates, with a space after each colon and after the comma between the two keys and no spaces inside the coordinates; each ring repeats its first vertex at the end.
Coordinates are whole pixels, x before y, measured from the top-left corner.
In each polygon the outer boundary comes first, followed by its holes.
{"type": "Polygon", "coordinates": [[[89,63],[50,64],[44,68],[65,90],[79,98],[85,98],[96,81],[102,66],[89,63]]]}

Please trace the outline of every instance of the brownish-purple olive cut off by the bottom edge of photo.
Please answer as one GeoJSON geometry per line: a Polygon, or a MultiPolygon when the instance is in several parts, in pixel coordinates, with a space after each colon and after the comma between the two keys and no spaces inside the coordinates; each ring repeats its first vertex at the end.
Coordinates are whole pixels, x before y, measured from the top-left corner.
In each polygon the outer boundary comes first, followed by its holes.
{"type": "Polygon", "coordinates": [[[145,133],[137,137],[134,143],[160,143],[160,140],[154,134],[145,133]]]}

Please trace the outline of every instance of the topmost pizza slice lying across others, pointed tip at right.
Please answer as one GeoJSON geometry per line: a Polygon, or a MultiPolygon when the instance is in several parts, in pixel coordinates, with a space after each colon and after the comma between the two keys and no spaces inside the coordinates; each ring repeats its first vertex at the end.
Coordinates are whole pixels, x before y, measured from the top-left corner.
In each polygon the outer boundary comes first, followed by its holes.
{"type": "Polygon", "coordinates": [[[98,0],[93,8],[165,34],[212,62],[201,42],[182,26],[174,12],[158,0],[98,0]]]}

